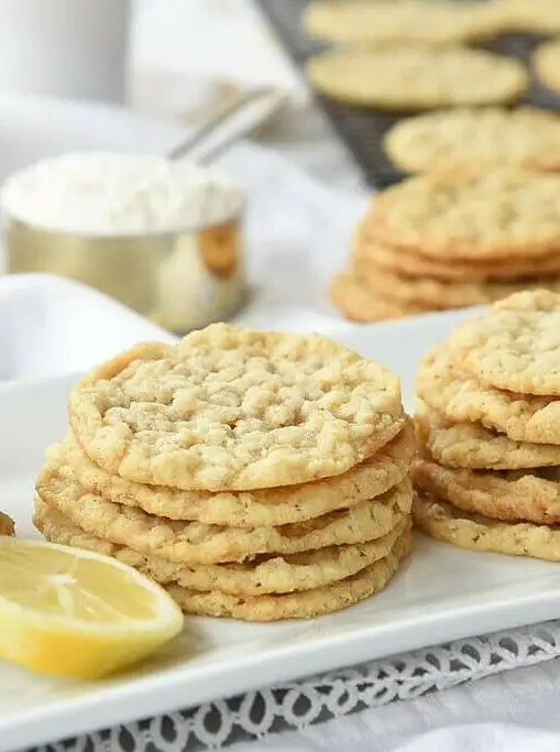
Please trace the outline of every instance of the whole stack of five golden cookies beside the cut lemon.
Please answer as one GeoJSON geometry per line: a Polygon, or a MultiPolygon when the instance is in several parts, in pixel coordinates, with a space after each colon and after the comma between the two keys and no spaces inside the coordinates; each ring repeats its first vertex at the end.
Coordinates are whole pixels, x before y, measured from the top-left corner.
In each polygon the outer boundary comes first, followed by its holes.
{"type": "Polygon", "coordinates": [[[323,337],[219,324],[139,345],[73,390],[69,422],[35,525],[135,566],[186,612],[327,613],[410,548],[398,380],[323,337]]]}

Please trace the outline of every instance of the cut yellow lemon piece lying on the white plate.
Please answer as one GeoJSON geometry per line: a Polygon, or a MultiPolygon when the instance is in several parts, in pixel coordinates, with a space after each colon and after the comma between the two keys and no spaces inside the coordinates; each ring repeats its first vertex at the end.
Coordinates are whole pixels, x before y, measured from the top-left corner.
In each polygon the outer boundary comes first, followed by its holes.
{"type": "Polygon", "coordinates": [[[94,679],[145,657],[183,628],[167,593],[108,556],[0,536],[0,657],[94,679]]]}

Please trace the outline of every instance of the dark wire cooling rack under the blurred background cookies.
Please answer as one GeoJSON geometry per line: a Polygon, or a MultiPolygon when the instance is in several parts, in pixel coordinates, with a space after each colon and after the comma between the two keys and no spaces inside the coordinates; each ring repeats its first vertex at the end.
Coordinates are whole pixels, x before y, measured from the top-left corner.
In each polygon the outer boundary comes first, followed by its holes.
{"type": "MultiPolygon", "coordinates": [[[[560,2],[560,0],[557,1],[560,2]]],[[[256,2],[286,52],[300,68],[308,57],[325,48],[320,42],[310,40],[301,29],[301,14],[309,0],[256,0],[256,2]]],[[[542,40],[543,37],[536,35],[508,34],[485,44],[484,47],[520,58],[528,64],[535,47],[542,40]]],[[[382,188],[403,177],[385,156],[382,148],[383,137],[398,119],[404,117],[402,113],[394,115],[348,107],[318,94],[316,100],[347,144],[369,185],[382,188]]],[[[560,96],[547,91],[537,81],[534,81],[521,101],[560,112],[560,96]]]]}

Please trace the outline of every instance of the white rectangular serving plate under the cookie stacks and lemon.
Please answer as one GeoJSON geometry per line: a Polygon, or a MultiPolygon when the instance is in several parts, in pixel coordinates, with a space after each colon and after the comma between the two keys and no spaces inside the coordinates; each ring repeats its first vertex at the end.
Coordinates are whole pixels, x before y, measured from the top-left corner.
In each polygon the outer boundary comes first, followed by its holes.
{"type": "MultiPolygon", "coordinates": [[[[409,393],[421,355],[465,315],[331,334],[393,368],[409,393]]],[[[72,380],[0,388],[0,508],[15,516],[20,535],[33,534],[33,479],[44,447],[65,431],[72,380]]],[[[559,613],[560,567],[462,552],[418,535],[411,558],[385,592],[330,617],[270,625],[190,618],[182,639],[163,654],[128,675],[92,684],[36,677],[0,663],[0,750],[559,613]]]]}

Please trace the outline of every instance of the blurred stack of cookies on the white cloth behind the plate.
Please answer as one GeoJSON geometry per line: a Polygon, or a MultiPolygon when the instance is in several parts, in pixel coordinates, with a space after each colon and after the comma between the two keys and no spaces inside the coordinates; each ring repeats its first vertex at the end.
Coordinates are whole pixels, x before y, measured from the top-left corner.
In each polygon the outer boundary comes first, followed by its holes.
{"type": "Polygon", "coordinates": [[[376,321],[560,290],[560,175],[519,167],[410,177],[377,194],[330,286],[376,321]]]}

